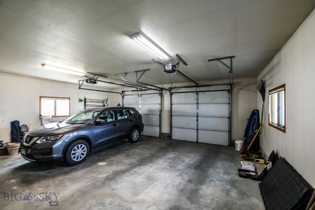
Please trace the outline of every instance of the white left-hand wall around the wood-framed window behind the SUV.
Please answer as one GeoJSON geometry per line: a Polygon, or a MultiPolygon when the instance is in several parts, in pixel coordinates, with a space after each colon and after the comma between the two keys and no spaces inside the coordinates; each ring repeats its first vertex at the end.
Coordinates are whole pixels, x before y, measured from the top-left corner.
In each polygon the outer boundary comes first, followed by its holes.
{"type": "MultiPolygon", "coordinates": [[[[78,84],[0,73],[0,140],[11,141],[11,121],[19,120],[20,125],[30,125],[30,129],[40,125],[39,96],[70,97],[70,115],[84,109],[84,102],[79,103],[79,98],[106,99],[108,97],[109,106],[117,105],[116,101],[112,100],[115,93],[79,90],[78,86],[78,84]],[[3,120],[5,122],[2,122],[3,120]]],[[[53,121],[63,119],[65,118],[54,118],[53,121]]],[[[49,120],[43,122],[48,123],[49,120]]]]}

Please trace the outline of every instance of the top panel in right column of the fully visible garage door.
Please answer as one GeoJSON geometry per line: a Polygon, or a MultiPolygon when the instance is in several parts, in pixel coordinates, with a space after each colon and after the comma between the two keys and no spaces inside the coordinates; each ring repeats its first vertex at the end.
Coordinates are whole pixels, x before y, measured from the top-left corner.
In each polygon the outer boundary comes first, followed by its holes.
{"type": "Polygon", "coordinates": [[[227,104],[228,92],[227,91],[213,91],[213,92],[199,92],[199,104],[227,104]]]}

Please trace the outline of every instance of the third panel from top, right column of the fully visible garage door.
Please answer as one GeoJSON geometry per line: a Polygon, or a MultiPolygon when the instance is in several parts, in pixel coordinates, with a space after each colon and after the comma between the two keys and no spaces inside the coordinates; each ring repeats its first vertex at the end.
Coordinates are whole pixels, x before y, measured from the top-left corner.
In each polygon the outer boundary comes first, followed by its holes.
{"type": "Polygon", "coordinates": [[[198,128],[202,130],[228,131],[227,118],[198,118],[198,128]]]}

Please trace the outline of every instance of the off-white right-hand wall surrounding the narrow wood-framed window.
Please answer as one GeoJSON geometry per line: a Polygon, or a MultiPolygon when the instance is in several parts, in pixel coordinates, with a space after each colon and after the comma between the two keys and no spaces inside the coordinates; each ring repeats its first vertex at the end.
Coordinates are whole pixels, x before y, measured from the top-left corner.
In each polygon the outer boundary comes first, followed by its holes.
{"type": "MultiPolygon", "coordinates": [[[[315,10],[258,75],[266,84],[261,147],[275,150],[315,186],[315,10]],[[286,133],[268,125],[268,90],[285,83],[286,133]]],[[[257,97],[258,104],[261,97],[257,97]]],[[[261,109],[261,108],[260,108],[261,109]]]]}

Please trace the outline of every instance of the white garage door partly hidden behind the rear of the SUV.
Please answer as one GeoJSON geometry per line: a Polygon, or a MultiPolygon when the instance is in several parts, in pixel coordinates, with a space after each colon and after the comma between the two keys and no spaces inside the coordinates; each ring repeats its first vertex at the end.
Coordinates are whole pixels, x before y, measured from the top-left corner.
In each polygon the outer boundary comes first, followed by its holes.
{"type": "Polygon", "coordinates": [[[159,137],[160,94],[125,95],[124,106],[135,107],[141,113],[144,124],[142,135],[159,137]]]}

